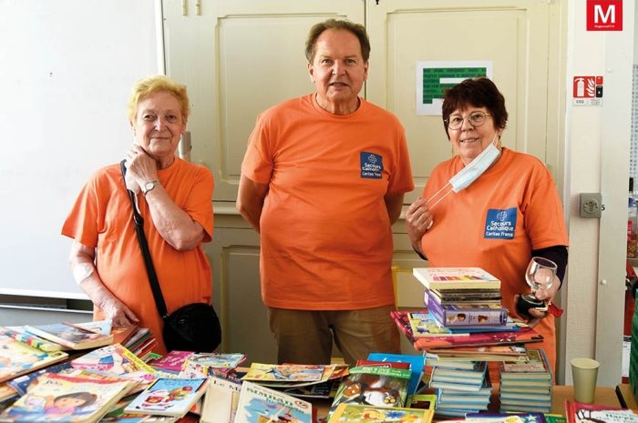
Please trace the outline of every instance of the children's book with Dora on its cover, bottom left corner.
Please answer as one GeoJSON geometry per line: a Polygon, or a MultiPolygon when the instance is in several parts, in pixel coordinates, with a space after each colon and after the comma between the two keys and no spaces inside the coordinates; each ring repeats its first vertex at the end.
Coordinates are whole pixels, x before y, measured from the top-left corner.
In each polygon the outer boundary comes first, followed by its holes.
{"type": "Polygon", "coordinates": [[[129,391],[131,382],[121,379],[74,378],[46,373],[24,397],[0,415],[2,422],[98,421],[129,391]]]}

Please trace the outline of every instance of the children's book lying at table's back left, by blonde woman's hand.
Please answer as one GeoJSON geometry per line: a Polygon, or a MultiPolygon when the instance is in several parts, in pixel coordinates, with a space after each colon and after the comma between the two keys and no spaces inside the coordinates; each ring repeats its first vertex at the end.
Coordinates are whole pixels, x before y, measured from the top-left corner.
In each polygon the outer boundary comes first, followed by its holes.
{"type": "Polygon", "coordinates": [[[80,324],[26,325],[25,329],[38,337],[44,337],[72,349],[102,347],[113,342],[113,335],[110,333],[101,334],[98,329],[88,329],[80,324]]]}

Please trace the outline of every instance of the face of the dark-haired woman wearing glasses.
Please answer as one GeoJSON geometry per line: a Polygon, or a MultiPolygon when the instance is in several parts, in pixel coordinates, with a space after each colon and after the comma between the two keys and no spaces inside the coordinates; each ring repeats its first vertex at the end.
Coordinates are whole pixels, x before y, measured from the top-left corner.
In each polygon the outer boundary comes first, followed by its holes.
{"type": "Polygon", "coordinates": [[[463,122],[458,129],[450,129],[448,127],[448,136],[454,148],[454,153],[460,156],[467,166],[490,143],[498,140],[496,134],[500,131],[494,126],[494,119],[486,107],[468,105],[462,109],[459,108],[448,117],[448,125],[452,125],[455,118],[457,120],[462,118],[463,122]],[[469,118],[469,116],[472,118],[469,118]],[[483,116],[485,121],[483,124],[479,124],[478,121],[482,120],[483,116]],[[473,124],[472,121],[475,123],[473,124]]]}

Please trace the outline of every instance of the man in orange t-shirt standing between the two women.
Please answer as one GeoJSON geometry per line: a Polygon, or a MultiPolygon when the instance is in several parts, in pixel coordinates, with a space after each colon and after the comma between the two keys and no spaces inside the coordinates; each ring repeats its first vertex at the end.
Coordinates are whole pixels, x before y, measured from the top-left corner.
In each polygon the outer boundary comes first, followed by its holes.
{"type": "Polygon", "coordinates": [[[316,92],[263,112],[243,159],[237,206],[261,233],[280,363],[329,363],[333,340],[351,364],[400,349],[391,225],[414,184],[403,127],[358,96],[369,51],[362,25],[314,25],[316,92]]]}

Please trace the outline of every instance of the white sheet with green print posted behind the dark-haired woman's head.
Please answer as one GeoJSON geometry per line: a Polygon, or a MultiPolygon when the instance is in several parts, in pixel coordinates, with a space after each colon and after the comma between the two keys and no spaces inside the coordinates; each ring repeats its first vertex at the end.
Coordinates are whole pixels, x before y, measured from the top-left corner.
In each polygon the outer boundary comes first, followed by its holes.
{"type": "Polygon", "coordinates": [[[491,78],[492,62],[417,62],[417,116],[441,116],[445,90],[476,76],[491,78]]]}

